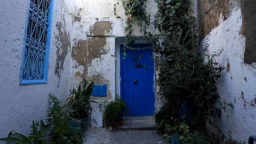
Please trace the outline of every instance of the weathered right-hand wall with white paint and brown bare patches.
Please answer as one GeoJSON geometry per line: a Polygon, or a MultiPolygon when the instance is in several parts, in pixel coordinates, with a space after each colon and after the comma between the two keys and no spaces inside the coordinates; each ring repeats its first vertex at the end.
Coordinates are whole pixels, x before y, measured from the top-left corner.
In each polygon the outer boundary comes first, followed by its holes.
{"type": "MultiPolygon", "coordinates": [[[[203,0],[199,4],[201,9],[209,6],[203,0]]],[[[224,49],[217,59],[226,67],[218,90],[222,100],[234,105],[208,124],[212,135],[220,138],[217,143],[247,143],[248,137],[256,134],[254,6],[253,1],[220,1],[200,23],[203,44],[208,43],[211,52],[224,49]]]]}

